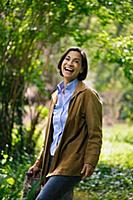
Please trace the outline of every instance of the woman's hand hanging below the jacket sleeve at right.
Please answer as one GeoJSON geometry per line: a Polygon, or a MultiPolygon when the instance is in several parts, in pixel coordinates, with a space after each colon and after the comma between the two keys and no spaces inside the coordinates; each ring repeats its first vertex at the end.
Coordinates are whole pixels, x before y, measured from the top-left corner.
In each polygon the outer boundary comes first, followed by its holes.
{"type": "Polygon", "coordinates": [[[94,172],[94,167],[90,164],[84,164],[81,174],[82,174],[82,179],[91,176],[94,172]]]}

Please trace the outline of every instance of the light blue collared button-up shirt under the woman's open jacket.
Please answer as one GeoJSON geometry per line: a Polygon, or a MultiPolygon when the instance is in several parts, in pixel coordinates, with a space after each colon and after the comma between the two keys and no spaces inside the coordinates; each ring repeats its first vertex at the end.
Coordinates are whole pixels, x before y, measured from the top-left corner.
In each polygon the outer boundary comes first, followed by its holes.
{"type": "Polygon", "coordinates": [[[52,156],[55,153],[56,147],[59,144],[62,133],[64,131],[64,127],[68,116],[69,103],[73,95],[73,92],[76,89],[77,83],[78,83],[77,79],[68,83],[65,89],[65,93],[63,93],[64,82],[61,82],[57,85],[58,100],[53,111],[54,132],[53,132],[53,141],[50,147],[50,154],[52,156]]]}

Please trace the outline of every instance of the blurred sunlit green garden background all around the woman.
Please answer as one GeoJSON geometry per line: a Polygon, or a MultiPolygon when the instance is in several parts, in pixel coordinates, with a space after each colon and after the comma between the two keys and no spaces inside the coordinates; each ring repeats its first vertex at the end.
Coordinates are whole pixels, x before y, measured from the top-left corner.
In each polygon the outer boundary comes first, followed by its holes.
{"type": "MultiPolygon", "coordinates": [[[[104,143],[89,199],[132,199],[132,0],[0,1],[0,197],[19,199],[45,133],[57,63],[70,46],[89,58],[86,84],[101,95],[104,143]]],[[[79,192],[80,190],[80,192],[79,192]]]]}

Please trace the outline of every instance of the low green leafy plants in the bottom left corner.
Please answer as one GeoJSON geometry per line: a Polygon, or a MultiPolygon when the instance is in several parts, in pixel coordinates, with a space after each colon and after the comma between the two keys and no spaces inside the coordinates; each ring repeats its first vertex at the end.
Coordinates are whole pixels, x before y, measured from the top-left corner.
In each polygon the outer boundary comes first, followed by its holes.
{"type": "Polygon", "coordinates": [[[21,158],[10,158],[8,163],[0,164],[0,197],[1,200],[20,199],[22,196],[25,172],[33,163],[33,156],[21,155],[21,158]]]}

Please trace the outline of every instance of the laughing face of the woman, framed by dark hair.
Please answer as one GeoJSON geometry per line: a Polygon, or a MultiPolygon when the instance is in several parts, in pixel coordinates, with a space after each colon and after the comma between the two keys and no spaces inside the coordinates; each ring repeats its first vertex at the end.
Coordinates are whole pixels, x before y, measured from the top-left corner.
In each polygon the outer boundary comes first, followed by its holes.
{"type": "Polygon", "coordinates": [[[66,83],[76,79],[82,73],[82,58],[78,51],[70,51],[64,58],[61,71],[66,83]]]}

